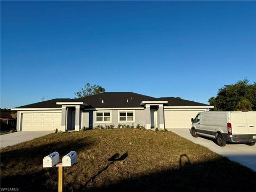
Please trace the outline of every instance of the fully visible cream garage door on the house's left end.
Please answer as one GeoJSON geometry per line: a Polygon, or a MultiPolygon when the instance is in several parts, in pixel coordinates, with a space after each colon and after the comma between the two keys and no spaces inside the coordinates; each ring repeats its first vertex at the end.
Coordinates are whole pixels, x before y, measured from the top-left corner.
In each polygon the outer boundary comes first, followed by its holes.
{"type": "Polygon", "coordinates": [[[21,131],[46,131],[61,128],[61,112],[23,113],[21,131]]]}

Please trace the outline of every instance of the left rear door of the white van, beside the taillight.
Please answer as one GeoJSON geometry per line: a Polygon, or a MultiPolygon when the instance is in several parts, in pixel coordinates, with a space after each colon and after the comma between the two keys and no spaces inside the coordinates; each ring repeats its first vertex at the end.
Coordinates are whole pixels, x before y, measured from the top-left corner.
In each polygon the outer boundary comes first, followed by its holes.
{"type": "Polygon", "coordinates": [[[249,130],[246,120],[246,112],[231,112],[230,123],[232,127],[232,134],[234,139],[249,139],[249,130]]]}

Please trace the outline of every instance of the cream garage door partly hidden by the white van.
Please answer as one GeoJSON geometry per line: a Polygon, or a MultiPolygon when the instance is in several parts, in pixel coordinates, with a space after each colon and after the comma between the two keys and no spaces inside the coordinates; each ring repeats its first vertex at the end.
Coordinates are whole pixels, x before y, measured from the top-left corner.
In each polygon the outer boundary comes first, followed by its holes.
{"type": "Polygon", "coordinates": [[[184,129],[191,128],[191,118],[195,118],[196,114],[204,110],[173,110],[164,111],[164,122],[166,129],[184,129]]]}

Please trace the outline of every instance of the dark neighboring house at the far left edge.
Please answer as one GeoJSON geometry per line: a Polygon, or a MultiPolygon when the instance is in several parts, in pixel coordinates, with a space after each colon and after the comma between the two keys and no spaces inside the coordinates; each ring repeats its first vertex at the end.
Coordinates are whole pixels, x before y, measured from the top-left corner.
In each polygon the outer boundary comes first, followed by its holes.
{"type": "Polygon", "coordinates": [[[1,130],[10,130],[16,127],[17,114],[11,114],[10,111],[1,111],[0,113],[1,130]]]}

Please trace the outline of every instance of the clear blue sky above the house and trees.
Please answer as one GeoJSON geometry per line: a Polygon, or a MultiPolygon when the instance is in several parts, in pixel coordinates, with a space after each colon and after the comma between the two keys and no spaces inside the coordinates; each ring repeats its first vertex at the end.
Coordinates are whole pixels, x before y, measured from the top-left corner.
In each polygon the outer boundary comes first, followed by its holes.
{"type": "Polygon", "coordinates": [[[106,91],[207,103],[256,81],[256,2],[3,2],[1,108],[106,91]]]}

